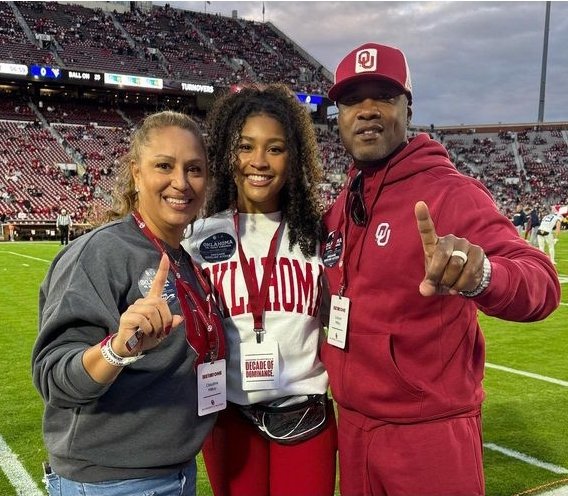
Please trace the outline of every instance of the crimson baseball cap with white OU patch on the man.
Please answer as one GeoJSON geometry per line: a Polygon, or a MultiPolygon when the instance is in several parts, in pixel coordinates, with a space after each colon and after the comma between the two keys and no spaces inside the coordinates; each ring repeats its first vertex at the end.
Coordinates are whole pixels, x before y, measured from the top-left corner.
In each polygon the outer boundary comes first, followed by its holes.
{"type": "Polygon", "coordinates": [[[335,70],[329,98],[337,101],[345,88],[362,81],[390,81],[404,91],[412,103],[412,83],[406,57],[398,48],[365,43],[349,52],[335,70]]]}

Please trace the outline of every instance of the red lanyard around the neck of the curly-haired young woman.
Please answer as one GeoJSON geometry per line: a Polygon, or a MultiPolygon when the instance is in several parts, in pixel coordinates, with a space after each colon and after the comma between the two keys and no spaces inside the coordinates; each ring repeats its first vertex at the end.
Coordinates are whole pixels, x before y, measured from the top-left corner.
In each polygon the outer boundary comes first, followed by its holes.
{"type": "Polygon", "coordinates": [[[264,273],[262,274],[262,283],[260,289],[253,278],[250,265],[247,261],[246,255],[243,251],[241,245],[241,240],[239,237],[239,214],[235,213],[233,216],[235,222],[235,231],[237,233],[237,245],[239,247],[239,260],[241,262],[241,268],[243,271],[243,277],[245,278],[245,284],[247,286],[247,291],[249,294],[249,302],[252,310],[252,316],[254,319],[253,331],[256,333],[256,342],[261,343],[263,333],[265,332],[263,324],[263,314],[264,307],[266,305],[266,300],[268,299],[268,288],[270,287],[270,278],[272,276],[272,271],[274,270],[274,265],[276,264],[276,246],[278,244],[278,238],[280,232],[284,227],[284,221],[280,221],[278,229],[274,232],[272,240],[270,241],[270,248],[268,249],[268,255],[266,255],[264,263],[264,273]]]}

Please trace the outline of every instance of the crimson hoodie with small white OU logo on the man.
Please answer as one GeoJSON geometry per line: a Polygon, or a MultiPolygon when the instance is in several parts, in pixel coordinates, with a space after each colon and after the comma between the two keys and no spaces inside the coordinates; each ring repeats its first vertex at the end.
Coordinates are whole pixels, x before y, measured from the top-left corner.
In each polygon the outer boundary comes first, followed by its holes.
{"type": "MultiPolygon", "coordinates": [[[[356,172],[352,165],[348,174],[356,172]]],[[[351,302],[345,349],[322,348],[341,413],[365,427],[478,412],[485,361],[478,308],[506,320],[544,319],[560,300],[556,270],[519,237],[487,189],[460,174],[427,134],[363,174],[367,226],[355,225],[349,215],[345,222],[346,190],[324,218],[330,291],[339,290],[343,248],[344,296],[351,302]],[[419,293],[425,275],[414,214],[419,200],[428,205],[438,236],[454,234],[485,251],[492,277],[480,296],[419,293]]]]}

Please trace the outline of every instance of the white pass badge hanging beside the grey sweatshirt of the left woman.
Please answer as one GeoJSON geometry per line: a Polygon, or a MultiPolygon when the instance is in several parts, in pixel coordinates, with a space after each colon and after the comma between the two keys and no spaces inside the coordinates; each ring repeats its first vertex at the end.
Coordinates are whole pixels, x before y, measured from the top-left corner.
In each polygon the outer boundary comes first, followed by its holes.
{"type": "Polygon", "coordinates": [[[227,364],[225,359],[197,366],[197,414],[202,417],[227,407],[227,364]]]}

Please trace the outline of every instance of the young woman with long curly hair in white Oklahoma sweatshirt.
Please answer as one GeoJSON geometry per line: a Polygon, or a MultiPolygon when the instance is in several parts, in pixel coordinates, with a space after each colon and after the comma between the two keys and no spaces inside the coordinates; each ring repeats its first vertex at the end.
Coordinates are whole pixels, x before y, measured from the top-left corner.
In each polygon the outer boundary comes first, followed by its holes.
{"type": "Polygon", "coordinates": [[[209,124],[209,217],[184,246],[221,295],[230,350],[228,407],[203,449],[213,491],[332,495],[337,432],[319,358],[321,166],[311,119],[273,84],[226,94],[209,124]]]}

